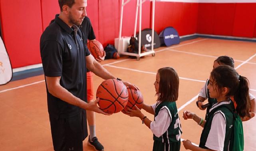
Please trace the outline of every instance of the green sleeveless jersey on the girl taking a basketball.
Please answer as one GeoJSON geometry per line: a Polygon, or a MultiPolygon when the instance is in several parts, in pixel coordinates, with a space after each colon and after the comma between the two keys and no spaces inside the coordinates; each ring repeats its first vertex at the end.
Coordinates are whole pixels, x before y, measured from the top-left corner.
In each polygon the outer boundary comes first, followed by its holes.
{"type": "Polygon", "coordinates": [[[172,143],[179,142],[181,138],[181,123],[179,119],[179,114],[176,106],[176,102],[162,102],[155,109],[155,117],[158,115],[162,107],[169,110],[169,116],[171,118],[171,123],[167,131],[160,137],[153,136],[155,141],[172,143]]]}

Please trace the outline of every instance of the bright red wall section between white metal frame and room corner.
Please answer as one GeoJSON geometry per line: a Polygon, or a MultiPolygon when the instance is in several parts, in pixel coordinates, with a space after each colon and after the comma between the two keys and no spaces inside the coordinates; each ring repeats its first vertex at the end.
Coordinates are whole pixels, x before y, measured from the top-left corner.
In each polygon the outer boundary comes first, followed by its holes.
{"type": "Polygon", "coordinates": [[[193,34],[196,32],[197,17],[197,3],[156,2],[155,30],[160,33],[171,26],[179,35],[193,34]]]}

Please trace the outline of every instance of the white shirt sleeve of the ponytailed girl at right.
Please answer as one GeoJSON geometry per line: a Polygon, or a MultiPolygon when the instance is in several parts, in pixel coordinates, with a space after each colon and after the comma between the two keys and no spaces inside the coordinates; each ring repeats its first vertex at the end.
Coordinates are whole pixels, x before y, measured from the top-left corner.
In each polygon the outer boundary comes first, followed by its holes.
{"type": "Polygon", "coordinates": [[[217,111],[212,118],[212,125],[205,146],[215,151],[223,151],[226,134],[226,118],[223,112],[217,111]]]}

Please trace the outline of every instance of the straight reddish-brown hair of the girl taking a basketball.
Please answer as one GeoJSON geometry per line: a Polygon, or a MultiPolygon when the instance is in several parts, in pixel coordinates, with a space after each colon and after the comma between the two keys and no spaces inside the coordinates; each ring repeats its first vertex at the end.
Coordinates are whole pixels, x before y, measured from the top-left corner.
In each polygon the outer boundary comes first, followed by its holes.
{"type": "Polygon", "coordinates": [[[157,71],[160,75],[157,101],[177,101],[179,96],[179,76],[171,67],[161,68],[157,71]]]}

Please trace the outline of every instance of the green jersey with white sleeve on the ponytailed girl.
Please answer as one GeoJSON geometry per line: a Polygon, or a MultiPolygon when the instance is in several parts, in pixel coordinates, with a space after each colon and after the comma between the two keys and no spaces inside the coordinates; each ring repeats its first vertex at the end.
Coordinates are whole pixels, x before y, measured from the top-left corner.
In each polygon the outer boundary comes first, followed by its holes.
{"type": "Polygon", "coordinates": [[[234,110],[231,100],[216,103],[210,108],[208,119],[200,137],[199,147],[216,151],[228,151],[232,134],[234,110]]]}

